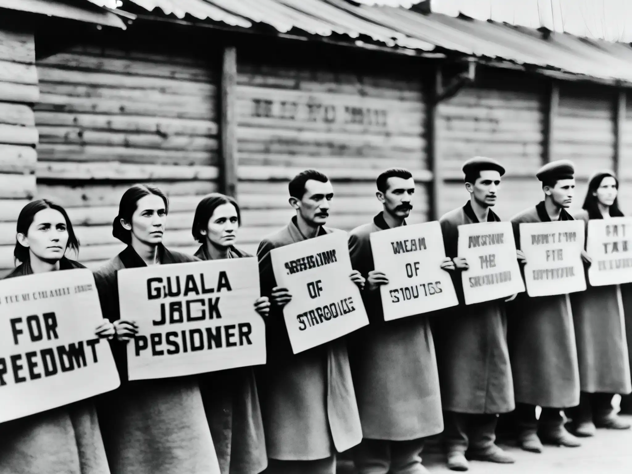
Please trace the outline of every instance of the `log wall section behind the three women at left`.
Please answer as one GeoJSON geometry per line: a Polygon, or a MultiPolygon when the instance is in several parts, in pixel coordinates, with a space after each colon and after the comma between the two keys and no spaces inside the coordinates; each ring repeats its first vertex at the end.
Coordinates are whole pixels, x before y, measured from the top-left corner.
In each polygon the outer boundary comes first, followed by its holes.
{"type": "Polygon", "coordinates": [[[98,265],[123,245],[112,237],[133,183],[171,198],[165,243],[190,252],[193,211],[216,190],[216,73],[207,59],[154,51],[75,47],[37,63],[38,195],[69,211],[80,261],[98,265]]]}

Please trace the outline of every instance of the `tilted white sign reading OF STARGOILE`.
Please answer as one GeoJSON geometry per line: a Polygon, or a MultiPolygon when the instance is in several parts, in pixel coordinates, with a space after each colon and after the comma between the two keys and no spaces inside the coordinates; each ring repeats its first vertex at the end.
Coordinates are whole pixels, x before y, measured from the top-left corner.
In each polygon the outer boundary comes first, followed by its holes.
{"type": "Polygon", "coordinates": [[[346,232],[275,248],[270,258],[277,286],[292,295],[283,315],[295,354],[368,324],[360,290],[349,279],[346,232]]]}

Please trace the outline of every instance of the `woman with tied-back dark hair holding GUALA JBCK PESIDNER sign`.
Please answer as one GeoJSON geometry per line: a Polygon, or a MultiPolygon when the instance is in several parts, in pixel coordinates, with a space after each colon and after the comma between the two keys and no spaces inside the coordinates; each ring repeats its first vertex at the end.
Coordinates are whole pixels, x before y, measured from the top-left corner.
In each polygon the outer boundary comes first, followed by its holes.
{"type": "Polygon", "coordinates": [[[120,319],[118,270],[193,262],[162,245],[169,201],[154,186],[125,191],[112,222],[127,248],[97,272],[103,313],[114,323],[114,358],[121,387],[99,403],[99,420],[112,474],[219,474],[197,377],[128,381],[126,343],[138,332],[120,319]]]}

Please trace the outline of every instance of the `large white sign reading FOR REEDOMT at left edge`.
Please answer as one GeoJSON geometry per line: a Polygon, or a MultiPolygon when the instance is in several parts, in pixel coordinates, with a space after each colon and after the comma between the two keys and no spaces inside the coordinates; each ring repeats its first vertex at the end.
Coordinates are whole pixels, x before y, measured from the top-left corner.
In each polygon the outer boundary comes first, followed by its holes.
{"type": "Polygon", "coordinates": [[[0,281],[0,313],[0,423],[119,386],[90,270],[0,281]]]}

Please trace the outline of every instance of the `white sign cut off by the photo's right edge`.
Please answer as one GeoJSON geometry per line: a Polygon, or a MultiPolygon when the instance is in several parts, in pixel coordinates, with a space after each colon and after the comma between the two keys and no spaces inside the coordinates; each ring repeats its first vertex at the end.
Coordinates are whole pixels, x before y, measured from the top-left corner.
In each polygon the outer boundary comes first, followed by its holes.
{"type": "Polygon", "coordinates": [[[593,259],[588,268],[592,286],[632,281],[632,217],[588,221],[586,252],[593,259]]]}

